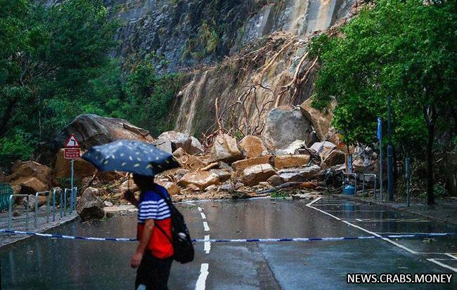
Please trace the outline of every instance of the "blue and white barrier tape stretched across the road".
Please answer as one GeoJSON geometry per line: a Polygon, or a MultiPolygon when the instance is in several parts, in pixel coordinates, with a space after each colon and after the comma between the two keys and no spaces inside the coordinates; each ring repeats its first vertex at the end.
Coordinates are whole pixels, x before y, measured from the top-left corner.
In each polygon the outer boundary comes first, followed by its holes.
{"type": "MultiPolygon", "coordinates": [[[[6,234],[13,235],[31,235],[37,237],[51,237],[56,239],[82,239],[87,241],[110,241],[110,242],[136,242],[138,239],[129,239],[124,237],[76,237],[68,235],[42,234],[40,232],[23,232],[20,230],[1,230],[6,234]]],[[[430,232],[430,233],[415,233],[408,235],[385,235],[385,236],[361,236],[361,237],[296,237],[282,239],[193,239],[192,242],[212,242],[212,243],[231,243],[231,242],[315,242],[315,241],[342,241],[350,239],[405,239],[413,237],[446,237],[457,235],[457,232],[430,232]]]]}

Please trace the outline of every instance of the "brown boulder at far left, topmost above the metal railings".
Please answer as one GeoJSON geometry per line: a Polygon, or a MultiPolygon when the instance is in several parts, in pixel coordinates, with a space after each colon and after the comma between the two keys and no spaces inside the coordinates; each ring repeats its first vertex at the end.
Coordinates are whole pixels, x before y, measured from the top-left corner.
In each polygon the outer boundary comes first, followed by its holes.
{"type": "Polygon", "coordinates": [[[51,186],[51,169],[46,165],[33,161],[15,162],[12,170],[13,173],[6,177],[6,180],[10,183],[15,183],[17,180],[24,180],[25,178],[33,177],[37,178],[37,180],[44,185],[51,186]]]}

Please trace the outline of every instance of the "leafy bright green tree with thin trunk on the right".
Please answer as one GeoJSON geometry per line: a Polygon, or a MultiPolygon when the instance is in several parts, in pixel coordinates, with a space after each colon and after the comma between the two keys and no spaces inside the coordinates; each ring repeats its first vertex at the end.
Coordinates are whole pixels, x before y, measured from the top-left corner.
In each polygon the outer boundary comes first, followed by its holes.
{"type": "Polygon", "coordinates": [[[397,156],[427,159],[433,204],[437,140],[455,150],[457,134],[456,1],[374,4],[342,27],[342,37],[313,39],[311,54],[321,63],[313,105],[326,110],[335,98],[333,124],[345,142],[374,144],[391,95],[397,156]]]}

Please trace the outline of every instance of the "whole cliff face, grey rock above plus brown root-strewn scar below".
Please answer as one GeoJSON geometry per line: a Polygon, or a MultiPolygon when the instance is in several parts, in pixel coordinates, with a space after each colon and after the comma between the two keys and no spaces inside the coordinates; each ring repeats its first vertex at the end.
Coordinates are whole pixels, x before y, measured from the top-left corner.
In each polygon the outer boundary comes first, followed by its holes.
{"type": "Polygon", "coordinates": [[[125,25],[113,54],[155,55],[158,72],[186,71],[176,131],[201,137],[220,123],[259,135],[274,107],[300,105],[318,64],[309,39],[348,18],[355,0],[104,0],[125,25]],[[163,60],[166,60],[165,62],[163,60]],[[219,112],[217,112],[219,110],[219,112]]]}

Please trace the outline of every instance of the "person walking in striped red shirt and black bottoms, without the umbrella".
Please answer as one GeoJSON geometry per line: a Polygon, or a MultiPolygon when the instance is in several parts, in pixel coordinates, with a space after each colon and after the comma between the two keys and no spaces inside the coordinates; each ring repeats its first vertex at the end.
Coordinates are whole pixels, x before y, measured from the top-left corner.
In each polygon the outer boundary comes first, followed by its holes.
{"type": "Polygon", "coordinates": [[[173,261],[172,220],[165,187],[154,183],[153,176],[134,174],[133,180],[140,189],[136,199],[133,192],[124,197],[138,209],[137,239],[139,244],[131,257],[131,268],[136,270],[135,289],[168,289],[168,277],[173,261]]]}

